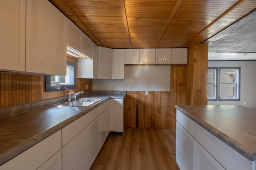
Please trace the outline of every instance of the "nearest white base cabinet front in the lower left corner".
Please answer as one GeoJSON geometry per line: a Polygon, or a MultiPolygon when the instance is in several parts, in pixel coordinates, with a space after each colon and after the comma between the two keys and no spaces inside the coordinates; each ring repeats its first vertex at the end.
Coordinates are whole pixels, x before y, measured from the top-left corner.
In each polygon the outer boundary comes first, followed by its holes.
{"type": "Polygon", "coordinates": [[[35,170],[40,166],[47,168],[51,167],[53,170],[60,170],[61,157],[58,152],[60,148],[61,132],[59,130],[0,166],[0,170],[20,170],[24,167],[26,167],[26,170],[35,170]],[[52,156],[54,156],[54,158],[51,158],[52,156]],[[52,164],[49,164],[47,160],[49,162],[54,160],[54,165],[52,166],[52,164]]]}

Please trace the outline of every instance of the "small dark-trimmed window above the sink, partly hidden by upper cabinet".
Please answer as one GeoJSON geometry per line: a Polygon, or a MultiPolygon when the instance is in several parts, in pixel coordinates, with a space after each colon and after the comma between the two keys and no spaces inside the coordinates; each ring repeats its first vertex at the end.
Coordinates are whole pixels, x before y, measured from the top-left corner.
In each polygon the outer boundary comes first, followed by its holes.
{"type": "Polygon", "coordinates": [[[76,88],[76,63],[67,61],[66,75],[45,76],[45,91],[60,91],[76,88]]]}

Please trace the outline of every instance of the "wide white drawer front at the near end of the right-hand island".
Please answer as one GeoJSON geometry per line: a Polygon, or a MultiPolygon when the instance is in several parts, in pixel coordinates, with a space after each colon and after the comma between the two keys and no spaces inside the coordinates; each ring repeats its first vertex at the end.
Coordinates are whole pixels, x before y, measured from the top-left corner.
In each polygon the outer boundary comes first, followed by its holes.
{"type": "Polygon", "coordinates": [[[225,169],[251,170],[250,160],[236,152],[219,138],[196,124],[196,140],[218,161],[225,169]]]}

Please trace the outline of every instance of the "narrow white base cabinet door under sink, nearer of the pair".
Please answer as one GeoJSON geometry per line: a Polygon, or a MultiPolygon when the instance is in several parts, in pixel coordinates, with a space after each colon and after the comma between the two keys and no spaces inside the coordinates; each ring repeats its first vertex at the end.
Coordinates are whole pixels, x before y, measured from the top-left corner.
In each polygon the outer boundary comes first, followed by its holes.
{"type": "Polygon", "coordinates": [[[97,117],[90,125],[90,166],[98,155],[99,149],[99,117],[97,117]]]}

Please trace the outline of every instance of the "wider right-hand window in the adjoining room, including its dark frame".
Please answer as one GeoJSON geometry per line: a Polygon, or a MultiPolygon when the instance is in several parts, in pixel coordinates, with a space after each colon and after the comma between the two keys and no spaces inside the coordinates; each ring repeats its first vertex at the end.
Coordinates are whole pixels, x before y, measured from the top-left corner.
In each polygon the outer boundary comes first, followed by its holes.
{"type": "Polygon", "coordinates": [[[219,101],[240,101],[240,67],[219,67],[219,101]]]}

